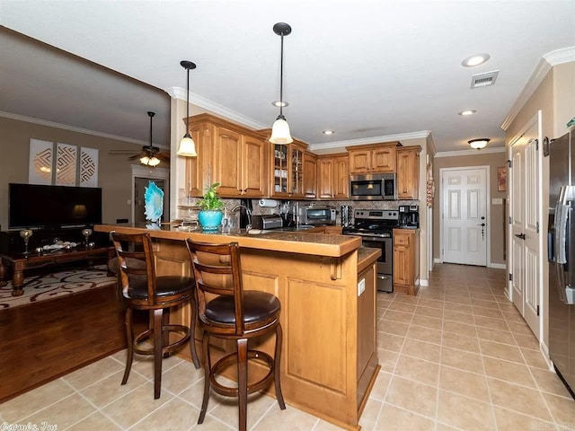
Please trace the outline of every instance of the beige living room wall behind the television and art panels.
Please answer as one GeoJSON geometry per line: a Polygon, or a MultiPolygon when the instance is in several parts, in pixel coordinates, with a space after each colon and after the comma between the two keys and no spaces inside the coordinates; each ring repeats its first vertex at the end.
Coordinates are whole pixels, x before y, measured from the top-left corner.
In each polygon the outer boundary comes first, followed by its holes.
{"type": "MultiPolygon", "coordinates": [[[[111,155],[109,150],[128,149],[137,153],[142,145],[51,128],[17,119],[0,117],[0,225],[8,228],[8,183],[28,182],[30,139],[97,148],[99,151],[98,186],[102,188],[102,220],[115,223],[131,216],[132,173],[127,155],[111,155]]],[[[136,163],[137,164],[137,163],[136,163]]]]}

